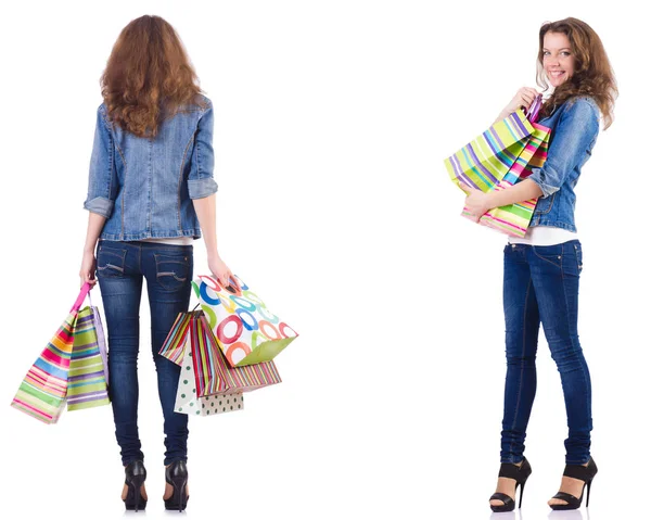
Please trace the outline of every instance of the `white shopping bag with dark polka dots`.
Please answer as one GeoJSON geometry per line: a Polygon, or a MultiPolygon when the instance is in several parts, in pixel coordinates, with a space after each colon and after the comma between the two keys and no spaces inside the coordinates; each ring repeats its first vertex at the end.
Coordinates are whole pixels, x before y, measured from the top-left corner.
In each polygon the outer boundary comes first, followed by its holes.
{"type": "MultiPolygon", "coordinates": [[[[187,335],[190,341],[190,335],[187,335]]],[[[194,381],[194,368],[192,366],[192,348],[186,348],[181,363],[181,378],[174,405],[174,410],[179,414],[210,416],[239,411],[244,409],[244,396],[242,392],[224,395],[196,395],[196,383],[194,381]]]]}

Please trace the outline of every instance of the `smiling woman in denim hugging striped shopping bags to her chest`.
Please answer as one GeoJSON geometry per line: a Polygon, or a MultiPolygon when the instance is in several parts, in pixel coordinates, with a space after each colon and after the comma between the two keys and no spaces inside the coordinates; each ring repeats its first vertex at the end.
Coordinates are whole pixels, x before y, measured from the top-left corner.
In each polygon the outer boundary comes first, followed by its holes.
{"type": "MultiPolygon", "coordinates": [[[[565,470],[552,509],[576,509],[597,466],[590,456],[592,430],[588,366],[578,341],[578,281],[583,269],[574,223],[574,187],[599,134],[612,123],[617,94],[614,74],[599,36],[585,22],[565,18],[539,31],[538,85],[552,93],[541,109],[540,125],[551,128],[548,156],[525,180],[502,191],[483,193],[464,188],[467,207],[478,220],[497,206],[539,198],[524,238],[505,248],[503,307],[507,380],[501,432],[501,466],[494,511],[510,511],[532,472],[524,457],[526,426],[536,393],[536,350],[540,322],[561,375],[569,436],[565,470]]],[[[538,92],[522,88],[498,119],[528,107],[538,92]]]]}

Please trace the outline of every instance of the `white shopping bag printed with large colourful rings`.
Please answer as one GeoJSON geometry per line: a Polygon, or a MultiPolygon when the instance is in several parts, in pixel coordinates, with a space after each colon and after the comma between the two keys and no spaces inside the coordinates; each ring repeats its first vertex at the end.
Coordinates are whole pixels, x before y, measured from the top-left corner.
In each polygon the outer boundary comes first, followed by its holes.
{"type": "Polygon", "coordinates": [[[224,287],[210,276],[200,276],[192,287],[231,367],[269,362],[298,334],[239,277],[233,278],[240,289],[224,287]]]}

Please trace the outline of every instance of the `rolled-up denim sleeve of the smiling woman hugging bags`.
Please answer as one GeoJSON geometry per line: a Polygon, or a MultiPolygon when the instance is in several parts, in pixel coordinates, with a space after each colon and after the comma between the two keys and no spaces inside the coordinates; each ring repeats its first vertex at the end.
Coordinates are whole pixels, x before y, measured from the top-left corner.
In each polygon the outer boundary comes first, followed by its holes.
{"type": "Polygon", "coordinates": [[[542,198],[557,192],[570,173],[580,166],[599,134],[599,110],[586,99],[577,99],[560,115],[541,168],[533,168],[527,179],[540,187],[542,198]]]}

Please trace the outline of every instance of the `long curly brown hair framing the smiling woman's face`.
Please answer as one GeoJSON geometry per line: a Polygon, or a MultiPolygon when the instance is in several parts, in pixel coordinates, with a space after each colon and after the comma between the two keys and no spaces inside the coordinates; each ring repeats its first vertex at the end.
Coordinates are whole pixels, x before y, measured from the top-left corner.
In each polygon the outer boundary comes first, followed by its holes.
{"type": "Polygon", "coordinates": [[[539,33],[537,83],[545,90],[549,89],[542,67],[542,41],[547,33],[562,33],[567,36],[574,53],[574,74],[554,89],[545,102],[540,115],[549,115],[571,98],[589,96],[597,102],[603,115],[604,129],[608,128],[613,122],[618,90],[601,39],[588,24],[577,18],[570,17],[544,24],[539,33]]]}

